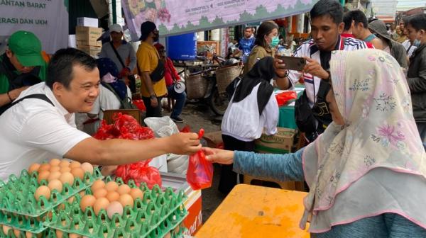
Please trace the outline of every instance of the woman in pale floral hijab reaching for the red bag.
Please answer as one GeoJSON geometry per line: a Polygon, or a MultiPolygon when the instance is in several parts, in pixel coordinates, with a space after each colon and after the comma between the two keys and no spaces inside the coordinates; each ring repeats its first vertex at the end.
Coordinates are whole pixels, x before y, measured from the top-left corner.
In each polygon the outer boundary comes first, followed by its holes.
{"type": "Polygon", "coordinates": [[[398,62],[381,50],[335,51],[330,69],[333,123],[315,142],[294,154],[205,149],[208,159],[305,180],[300,227],[310,222],[312,237],[426,237],[426,154],[398,62]]]}

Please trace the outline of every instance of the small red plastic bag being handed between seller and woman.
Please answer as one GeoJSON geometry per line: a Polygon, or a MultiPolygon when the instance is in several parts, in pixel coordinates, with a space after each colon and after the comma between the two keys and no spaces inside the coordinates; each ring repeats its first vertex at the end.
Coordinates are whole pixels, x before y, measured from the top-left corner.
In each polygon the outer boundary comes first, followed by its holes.
{"type": "MultiPolygon", "coordinates": [[[[204,130],[200,129],[198,138],[201,139],[204,130]]],[[[187,170],[187,182],[193,190],[209,188],[212,186],[213,164],[206,160],[204,152],[200,149],[190,156],[187,170]]]]}

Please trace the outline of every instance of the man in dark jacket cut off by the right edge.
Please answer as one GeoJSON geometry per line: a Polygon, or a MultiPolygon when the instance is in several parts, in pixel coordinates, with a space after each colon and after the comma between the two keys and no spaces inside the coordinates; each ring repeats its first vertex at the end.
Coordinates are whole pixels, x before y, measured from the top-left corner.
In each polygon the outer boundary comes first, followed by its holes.
{"type": "Polygon", "coordinates": [[[413,115],[422,142],[426,142],[426,14],[418,14],[410,18],[407,30],[417,35],[419,47],[410,57],[407,82],[410,87],[413,115]]]}

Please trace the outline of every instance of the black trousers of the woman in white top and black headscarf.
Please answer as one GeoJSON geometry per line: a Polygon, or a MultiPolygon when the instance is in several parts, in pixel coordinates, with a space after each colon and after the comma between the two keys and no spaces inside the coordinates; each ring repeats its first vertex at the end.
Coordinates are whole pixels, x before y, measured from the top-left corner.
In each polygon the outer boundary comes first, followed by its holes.
{"type": "MultiPolygon", "coordinates": [[[[222,135],[222,140],[224,141],[224,149],[246,152],[254,151],[254,141],[244,142],[229,135],[222,135]]],[[[219,181],[219,191],[222,193],[228,194],[232,188],[236,186],[238,174],[232,171],[233,166],[234,164],[222,164],[222,171],[220,173],[219,181]]],[[[240,181],[242,181],[242,176],[240,181]]]]}

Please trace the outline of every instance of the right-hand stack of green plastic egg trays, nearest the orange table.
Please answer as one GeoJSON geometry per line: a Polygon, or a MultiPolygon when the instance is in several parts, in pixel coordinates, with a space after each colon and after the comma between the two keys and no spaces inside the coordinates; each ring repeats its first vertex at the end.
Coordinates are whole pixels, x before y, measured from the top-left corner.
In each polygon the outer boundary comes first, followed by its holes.
{"type": "MultiPolygon", "coordinates": [[[[106,180],[112,181],[110,177],[106,180]]],[[[124,183],[121,178],[117,178],[116,182],[120,185],[124,183]]],[[[128,185],[138,187],[133,181],[129,181],[128,185]]],[[[161,191],[159,186],[149,190],[145,183],[141,183],[139,188],[144,192],[143,198],[136,198],[133,208],[126,205],[123,215],[114,214],[110,219],[104,209],[94,215],[92,207],[83,212],[80,208],[81,197],[77,194],[72,203],[65,203],[64,210],[53,212],[51,219],[46,217],[44,225],[84,237],[156,238],[170,232],[187,216],[183,191],[178,194],[172,188],[161,191]]],[[[87,189],[86,194],[92,194],[92,191],[87,189]]]]}

